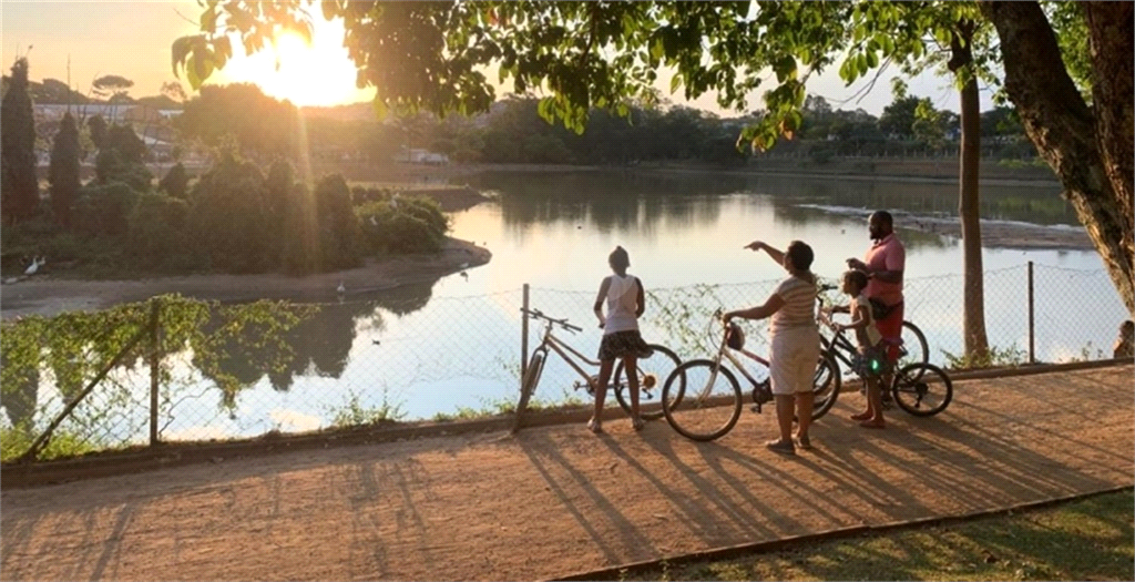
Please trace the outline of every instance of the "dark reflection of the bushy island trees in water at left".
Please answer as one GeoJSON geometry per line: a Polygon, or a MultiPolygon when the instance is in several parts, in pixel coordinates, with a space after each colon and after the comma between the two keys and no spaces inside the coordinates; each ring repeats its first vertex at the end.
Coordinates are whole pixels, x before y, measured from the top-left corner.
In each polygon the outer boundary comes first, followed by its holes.
{"type": "MultiPolygon", "coordinates": [[[[254,332],[233,338],[221,346],[225,356],[220,359],[218,368],[222,373],[236,378],[242,388],[250,387],[267,376],[272,388],[278,391],[288,390],[297,376],[339,378],[350,360],[358,321],[367,320],[365,327],[382,329],[385,323],[379,307],[396,315],[424,307],[437,280],[434,278],[387,289],[365,301],[321,305],[318,313],[285,334],[284,341],[292,353],[283,359],[270,346],[259,345],[253,337],[254,332]]],[[[217,330],[218,323],[212,326],[207,332],[217,330]]],[[[218,380],[202,373],[209,380],[218,380]]],[[[235,402],[235,395],[225,395],[222,405],[233,408],[235,402]]]]}

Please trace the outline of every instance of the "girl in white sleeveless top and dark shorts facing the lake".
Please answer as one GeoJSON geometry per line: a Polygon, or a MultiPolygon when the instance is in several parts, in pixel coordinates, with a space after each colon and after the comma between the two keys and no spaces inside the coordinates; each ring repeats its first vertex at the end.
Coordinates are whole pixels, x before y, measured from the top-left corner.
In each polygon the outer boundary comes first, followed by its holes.
{"type": "Polygon", "coordinates": [[[599,295],[595,298],[595,315],[599,318],[603,329],[603,341],[599,344],[599,382],[595,387],[595,414],[587,422],[587,428],[595,433],[603,432],[603,400],[607,396],[607,382],[615,360],[623,360],[627,370],[628,388],[631,396],[631,425],[642,430],[642,419],[638,411],[638,369],[639,357],[649,357],[650,347],[639,335],[638,319],[646,311],[646,295],[642,281],[638,277],[627,275],[631,265],[627,251],[616,246],[607,258],[607,264],[614,275],[605,277],[599,284],[599,295]],[[603,302],[607,302],[607,315],[603,315],[603,302]]]}

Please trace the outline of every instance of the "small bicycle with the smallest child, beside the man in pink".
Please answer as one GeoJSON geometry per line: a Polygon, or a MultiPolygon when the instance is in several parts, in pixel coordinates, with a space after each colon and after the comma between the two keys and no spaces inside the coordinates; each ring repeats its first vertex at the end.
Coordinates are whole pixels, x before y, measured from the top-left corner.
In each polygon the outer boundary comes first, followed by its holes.
{"type": "MultiPolygon", "coordinates": [[[[821,287],[822,290],[827,290],[827,288],[833,287],[821,287]]],[[[844,330],[840,329],[832,321],[831,307],[822,305],[816,320],[823,328],[832,332],[831,339],[821,337],[821,340],[824,343],[824,351],[829,357],[832,361],[842,362],[848,368],[854,368],[852,361],[859,353],[859,348],[844,335],[844,330]]],[[[903,327],[907,323],[907,321],[903,321],[903,327]]],[[[910,327],[918,331],[918,328],[915,328],[914,323],[910,323],[910,327]]],[[[923,337],[922,331],[918,331],[918,337],[923,337]]],[[[905,353],[903,345],[905,341],[900,338],[900,357],[905,353]]],[[[923,349],[923,353],[925,353],[925,349],[923,349]]],[[[933,416],[944,411],[950,405],[950,400],[953,399],[953,382],[950,381],[950,377],[941,368],[930,362],[902,362],[900,360],[899,363],[891,364],[883,357],[877,362],[877,365],[880,378],[891,376],[890,386],[882,387],[883,394],[889,394],[891,400],[909,414],[915,416],[933,416]],[[941,395],[935,390],[936,387],[941,387],[941,395]]]]}

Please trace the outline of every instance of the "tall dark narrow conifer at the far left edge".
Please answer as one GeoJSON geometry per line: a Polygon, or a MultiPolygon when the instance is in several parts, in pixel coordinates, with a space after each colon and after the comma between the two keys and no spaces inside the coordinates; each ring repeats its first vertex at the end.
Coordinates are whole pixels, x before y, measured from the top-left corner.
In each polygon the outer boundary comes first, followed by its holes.
{"type": "Polygon", "coordinates": [[[0,104],[0,208],[8,223],[26,220],[40,203],[35,177],[35,118],[27,94],[27,58],[11,66],[11,82],[0,104]]]}

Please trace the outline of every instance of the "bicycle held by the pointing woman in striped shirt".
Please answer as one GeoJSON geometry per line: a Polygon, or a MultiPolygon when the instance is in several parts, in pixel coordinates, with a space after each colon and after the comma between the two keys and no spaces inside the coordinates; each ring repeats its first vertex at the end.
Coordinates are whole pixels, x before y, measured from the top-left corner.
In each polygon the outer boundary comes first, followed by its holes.
{"type": "MultiPolygon", "coordinates": [[[[671,372],[662,387],[662,412],[666,422],[678,433],[698,441],[725,436],[741,416],[741,386],[737,376],[725,366],[725,362],[753,385],[755,412],[759,413],[763,404],[773,400],[768,360],[745,349],[743,335],[735,331],[740,328],[735,323],[725,324],[722,310],[714,312],[709,327],[715,321],[723,328],[716,354],[711,359],[682,363],[671,372]],[[741,339],[738,339],[739,335],[741,339]],[[746,366],[734,352],[743,354],[755,364],[746,366]]],[[[821,353],[813,379],[813,394],[816,395],[813,420],[827,414],[835,404],[840,382],[839,366],[821,353]]]]}

